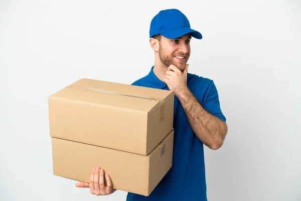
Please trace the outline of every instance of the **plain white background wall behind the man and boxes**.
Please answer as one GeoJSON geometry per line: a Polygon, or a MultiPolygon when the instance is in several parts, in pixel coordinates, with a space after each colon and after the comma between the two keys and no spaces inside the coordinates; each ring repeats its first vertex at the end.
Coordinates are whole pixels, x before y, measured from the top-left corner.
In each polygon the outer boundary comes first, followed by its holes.
{"type": "Polygon", "coordinates": [[[169,8],[203,34],[189,72],[215,81],[229,126],[205,148],[209,201],[301,200],[298,0],[0,1],[0,200],[125,200],[52,174],[47,97],[82,77],[146,75],[149,23],[169,8]]]}

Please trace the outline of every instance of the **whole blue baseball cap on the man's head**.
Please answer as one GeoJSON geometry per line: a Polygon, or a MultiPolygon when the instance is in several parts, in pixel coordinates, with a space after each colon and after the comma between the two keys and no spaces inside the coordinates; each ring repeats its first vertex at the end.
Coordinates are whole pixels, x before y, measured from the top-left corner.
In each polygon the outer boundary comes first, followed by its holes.
{"type": "Polygon", "coordinates": [[[161,34],[166,38],[179,38],[185,34],[202,39],[200,32],[191,29],[187,17],[177,9],[167,9],[160,11],[150,22],[149,38],[161,34]]]}

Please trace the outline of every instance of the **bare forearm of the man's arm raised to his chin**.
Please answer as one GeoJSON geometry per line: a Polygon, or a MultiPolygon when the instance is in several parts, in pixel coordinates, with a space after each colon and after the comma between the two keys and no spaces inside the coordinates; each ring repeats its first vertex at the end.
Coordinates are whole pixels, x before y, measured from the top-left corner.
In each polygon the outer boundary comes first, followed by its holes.
{"type": "Polygon", "coordinates": [[[226,123],[208,113],[188,88],[179,100],[197,137],[211,149],[220,148],[227,133],[226,123]]]}

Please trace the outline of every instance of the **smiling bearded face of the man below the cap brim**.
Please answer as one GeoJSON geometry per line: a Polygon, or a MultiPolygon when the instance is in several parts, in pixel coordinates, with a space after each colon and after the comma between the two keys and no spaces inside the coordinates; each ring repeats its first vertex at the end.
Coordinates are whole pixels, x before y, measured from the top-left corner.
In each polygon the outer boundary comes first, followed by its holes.
{"type": "Polygon", "coordinates": [[[159,42],[159,58],[161,62],[167,67],[173,64],[183,71],[190,56],[190,40],[190,34],[177,39],[161,36],[159,42]]]}

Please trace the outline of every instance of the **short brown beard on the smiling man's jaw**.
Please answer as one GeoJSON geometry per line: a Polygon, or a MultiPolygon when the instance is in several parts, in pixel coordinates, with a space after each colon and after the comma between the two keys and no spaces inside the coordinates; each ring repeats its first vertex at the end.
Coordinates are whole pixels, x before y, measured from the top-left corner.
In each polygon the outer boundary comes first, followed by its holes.
{"type": "Polygon", "coordinates": [[[188,61],[189,58],[189,54],[172,54],[171,56],[168,56],[165,51],[163,50],[161,44],[159,46],[159,58],[161,60],[161,62],[166,65],[166,66],[170,66],[171,64],[177,66],[182,72],[186,67],[186,63],[188,61]],[[184,56],[185,60],[183,62],[177,62],[175,56],[184,56]]]}

